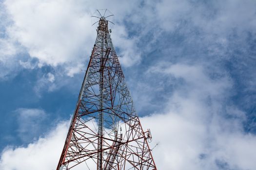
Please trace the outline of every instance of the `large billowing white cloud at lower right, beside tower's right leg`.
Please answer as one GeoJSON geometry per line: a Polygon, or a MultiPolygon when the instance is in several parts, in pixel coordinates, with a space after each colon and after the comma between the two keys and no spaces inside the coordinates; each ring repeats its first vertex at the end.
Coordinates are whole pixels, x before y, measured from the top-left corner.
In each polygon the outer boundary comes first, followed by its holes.
{"type": "Polygon", "coordinates": [[[152,134],[160,143],[154,151],[158,156],[164,155],[157,159],[160,169],[255,169],[251,157],[256,151],[256,136],[243,130],[246,113],[225,103],[233,86],[229,77],[224,74],[213,79],[197,65],[159,66],[149,71],[174,76],[182,82],[169,99],[165,114],[142,118],[143,125],[154,127],[152,134]]]}

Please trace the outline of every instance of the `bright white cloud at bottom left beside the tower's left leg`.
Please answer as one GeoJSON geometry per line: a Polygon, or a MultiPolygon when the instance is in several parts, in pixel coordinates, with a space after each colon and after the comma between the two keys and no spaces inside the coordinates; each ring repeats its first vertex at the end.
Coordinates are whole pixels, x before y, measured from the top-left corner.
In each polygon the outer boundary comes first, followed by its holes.
{"type": "Polygon", "coordinates": [[[1,154],[1,170],[54,170],[64,145],[68,122],[60,122],[47,136],[27,147],[7,147],[1,154]]]}

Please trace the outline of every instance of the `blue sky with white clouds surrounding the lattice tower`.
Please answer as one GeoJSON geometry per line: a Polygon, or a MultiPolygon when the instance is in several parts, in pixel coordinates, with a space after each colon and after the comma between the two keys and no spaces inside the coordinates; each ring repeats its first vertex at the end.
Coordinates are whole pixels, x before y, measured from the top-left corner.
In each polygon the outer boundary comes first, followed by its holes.
{"type": "Polygon", "coordinates": [[[256,170],[255,0],[0,0],[0,169],[54,170],[97,32],[159,170],[256,170]]]}

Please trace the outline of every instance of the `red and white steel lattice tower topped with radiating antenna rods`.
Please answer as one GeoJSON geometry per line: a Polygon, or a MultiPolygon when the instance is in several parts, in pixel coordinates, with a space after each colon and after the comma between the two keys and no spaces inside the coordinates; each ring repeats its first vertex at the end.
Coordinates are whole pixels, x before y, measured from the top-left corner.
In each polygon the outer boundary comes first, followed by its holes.
{"type": "Polygon", "coordinates": [[[97,39],[57,170],[157,170],[150,131],[142,130],[134,110],[106,12],[93,16],[97,39]]]}

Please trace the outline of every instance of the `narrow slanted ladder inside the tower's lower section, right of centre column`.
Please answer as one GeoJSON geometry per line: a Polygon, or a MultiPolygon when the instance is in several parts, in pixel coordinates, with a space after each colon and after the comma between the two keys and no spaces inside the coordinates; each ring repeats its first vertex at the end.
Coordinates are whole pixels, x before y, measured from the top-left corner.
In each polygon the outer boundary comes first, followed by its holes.
{"type": "Polygon", "coordinates": [[[111,146],[108,157],[106,159],[107,161],[104,165],[104,170],[112,170],[113,169],[113,164],[115,163],[115,160],[116,160],[116,157],[118,154],[118,150],[121,146],[121,141],[122,141],[122,134],[120,136],[118,136],[118,134],[116,134],[115,141],[113,142],[113,145],[111,146]]]}

